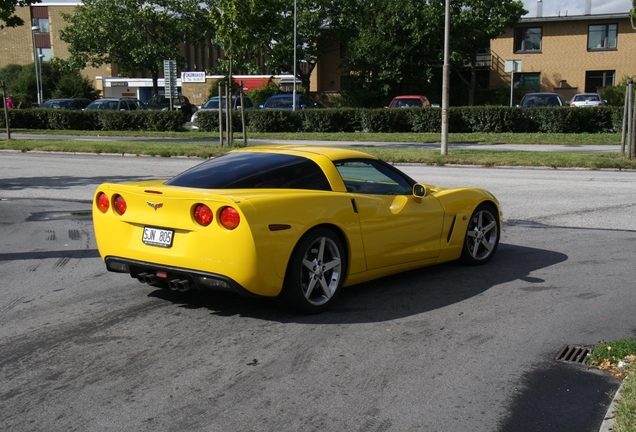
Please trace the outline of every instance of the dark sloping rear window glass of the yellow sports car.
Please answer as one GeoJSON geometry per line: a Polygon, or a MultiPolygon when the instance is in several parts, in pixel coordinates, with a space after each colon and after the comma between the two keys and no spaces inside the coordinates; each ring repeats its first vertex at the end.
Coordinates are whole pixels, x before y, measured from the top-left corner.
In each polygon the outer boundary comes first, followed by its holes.
{"type": "Polygon", "coordinates": [[[331,190],[322,169],[312,160],[275,153],[228,153],[166,182],[201,189],[331,190]]]}

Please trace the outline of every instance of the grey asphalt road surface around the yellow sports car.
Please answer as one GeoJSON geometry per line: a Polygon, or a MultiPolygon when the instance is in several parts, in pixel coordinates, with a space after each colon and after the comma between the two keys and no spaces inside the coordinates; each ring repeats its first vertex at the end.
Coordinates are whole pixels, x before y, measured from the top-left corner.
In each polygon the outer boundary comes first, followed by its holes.
{"type": "Polygon", "coordinates": [[[598,430],[618,383],[554,357],[636,336],[636,173],[402,166],[495,193],[498,254],[351,287],[302,316],[106,272],[96,185],[198,162],[0,153],[2,429],[598,430]]]}

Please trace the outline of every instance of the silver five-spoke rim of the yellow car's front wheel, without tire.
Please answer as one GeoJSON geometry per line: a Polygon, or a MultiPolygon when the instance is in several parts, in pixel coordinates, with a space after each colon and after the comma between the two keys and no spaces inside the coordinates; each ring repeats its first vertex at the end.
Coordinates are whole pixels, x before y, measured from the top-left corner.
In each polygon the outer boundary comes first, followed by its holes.
{"type": "Polygon", "coordinates": [[[468,223],[467,253],[476,261],[484,261],[494,253],[499,242],[499,223],[490,208],[478,208],[468,223]]]}

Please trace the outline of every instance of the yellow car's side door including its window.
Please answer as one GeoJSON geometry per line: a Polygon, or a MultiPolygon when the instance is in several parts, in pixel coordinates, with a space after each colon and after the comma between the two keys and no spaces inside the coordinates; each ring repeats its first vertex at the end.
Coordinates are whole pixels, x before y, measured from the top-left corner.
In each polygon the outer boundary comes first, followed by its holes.
{"type": "Polygon", "coordinates": [[[444,211],[435,197],[415,200],[414,182],[381,161],[335,165],[360,218],[368,270],[438,257],[444,211]]]}

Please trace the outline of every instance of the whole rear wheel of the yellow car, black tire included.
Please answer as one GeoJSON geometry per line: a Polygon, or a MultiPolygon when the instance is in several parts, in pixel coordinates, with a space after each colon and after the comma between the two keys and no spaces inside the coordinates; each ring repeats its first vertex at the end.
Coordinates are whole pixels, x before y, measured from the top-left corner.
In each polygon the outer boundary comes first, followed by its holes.
{"type": "Polygon", "coordinates": [[[340,238],[330,229],[316,228],[294,248],[282,294],[292,308],[319,313],[333,303],[345,274],[346,260],[340,238]]]}

